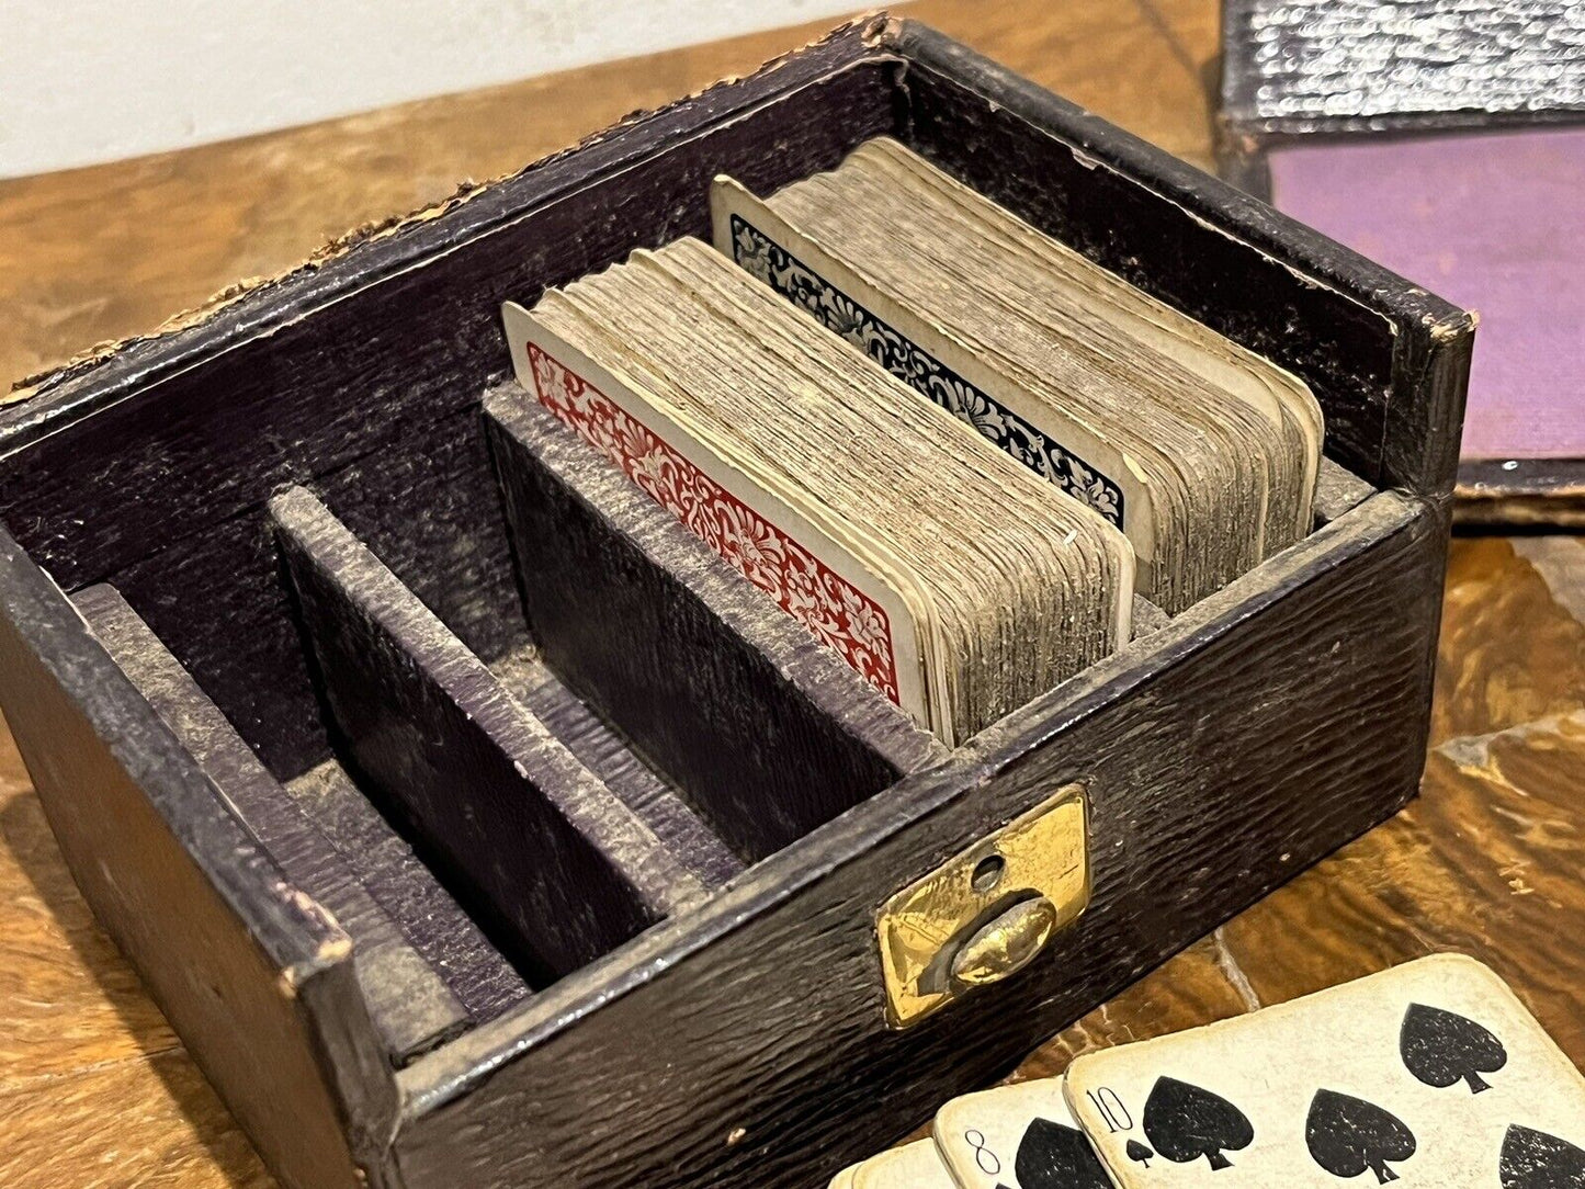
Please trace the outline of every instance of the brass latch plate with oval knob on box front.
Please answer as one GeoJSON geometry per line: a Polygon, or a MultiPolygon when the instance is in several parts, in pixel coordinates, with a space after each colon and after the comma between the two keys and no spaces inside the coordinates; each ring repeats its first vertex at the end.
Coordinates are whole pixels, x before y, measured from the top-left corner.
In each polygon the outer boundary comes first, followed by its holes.
{"type": "Polygon", "coordinates": [[[910,1027],[1018,973],[1084,912],[1086,815],[1084,786],[1065,785],[881,907],[888,1024],[910,1027]]]}

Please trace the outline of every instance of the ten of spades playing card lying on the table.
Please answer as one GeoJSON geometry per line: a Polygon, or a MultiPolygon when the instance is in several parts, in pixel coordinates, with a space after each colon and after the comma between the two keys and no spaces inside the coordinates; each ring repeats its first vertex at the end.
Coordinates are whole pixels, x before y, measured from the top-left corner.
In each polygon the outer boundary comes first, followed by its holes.
{"type": "Polygon", "coordinates": [[[1124,1189],[1585,1189],[1585,1078],[1458,954],[1083,1056],[1065,1089],[1124,1189]]]}

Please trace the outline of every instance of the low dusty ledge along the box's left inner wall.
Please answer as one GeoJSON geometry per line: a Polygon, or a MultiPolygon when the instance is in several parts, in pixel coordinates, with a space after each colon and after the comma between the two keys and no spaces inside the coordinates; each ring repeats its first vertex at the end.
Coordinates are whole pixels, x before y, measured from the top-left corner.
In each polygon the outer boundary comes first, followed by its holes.
{"type": "Polygon", "coordinates": [[[120,593],[109,585],[89,587],[73,602],[238,823],[296,891],[346,929],[358,986],[393,1064],[404,1065],[471,1027],[474,1015],[120,593]]]}

